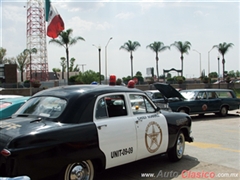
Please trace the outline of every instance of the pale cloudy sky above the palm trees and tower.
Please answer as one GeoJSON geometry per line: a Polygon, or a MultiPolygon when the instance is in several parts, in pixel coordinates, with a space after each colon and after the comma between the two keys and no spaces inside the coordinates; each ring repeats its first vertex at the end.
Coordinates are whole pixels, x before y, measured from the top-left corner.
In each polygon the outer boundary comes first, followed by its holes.
{"type": "MultiPolygon", "coordinates": [[[[149,44],[161,41],[170,46],[175,41],[189,41],[191,49],[184,54],[183,75],[198,78],[201,71],[208,74],[220,73],[222,57],[214,45],[233,43],[225,54],[225,70],[240,70],[239,17],[240,1],[82,1],[51,0],[61,15],[65,30],[73,29],[72,36],[81,36],[70,47],[69,57],[75,64],[84,64],[80,70],[99,72],[99,51],[101,47],[101,72],[114,74],[117,78],[131,75],[130,53],[121,49],[128,40],[137,41],[140,47],[133,52],[133,74],[140,71],[147,76],[146,69],[154,67],[155,53],[149,44]],[[112,38],[110,41],[109,39],[112,38]],[[109,42],[109,43],[108,43],[109,42]],[[108,43],[108,44],[107,44],[108,43]],[[94,46],[93,46],[94,45],[94,46]],[[105,63],[107,60],[107,64],[105,63]],[[200,66],[201,64],[201,66],[200,66]],[[201,68],[200,68],[201,67],[201,68]]],[[[7,49],[6,57],[16,57],[26,49],[26,6],[24,0],[0,0],[0,47],[7,49]]],[[[47,23],[46,23],[47,26],[47,23]]],[[[60,68],[60,58],[66,57],[65,49],[49,44],[47,37],[49,72],[60,68]]],[[[171,46],[170,50],[159,53],[159,75],[164,70],[181,69],[180,52],[171,46]]],[[[176,76],[174,71],[170,72],[176,76]]]]}

